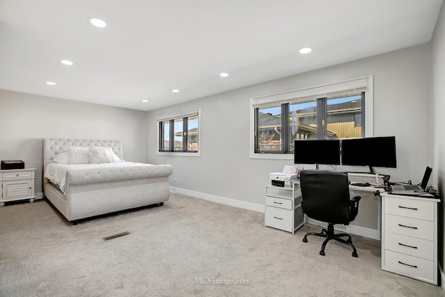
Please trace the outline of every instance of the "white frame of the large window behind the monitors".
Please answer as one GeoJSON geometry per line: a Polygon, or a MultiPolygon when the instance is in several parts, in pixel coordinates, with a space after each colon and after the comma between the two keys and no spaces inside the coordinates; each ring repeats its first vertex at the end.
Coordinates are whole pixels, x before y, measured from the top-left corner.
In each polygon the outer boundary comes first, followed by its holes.
{"type": "Polygon", "coordinates": [[[260,97],[250,98],[250,159],[282,159],[293,160],[293,154],[262,154],[255,152],[255,109],[266,104],[296,103],[308,97],[330,97],[344,93],[365,93],[364,106],[364,137],[374,135],[374,77],[357,77],[347,81],[329,83],[321,86],[291,90],[289,92],[277,93],[260,97]]]}

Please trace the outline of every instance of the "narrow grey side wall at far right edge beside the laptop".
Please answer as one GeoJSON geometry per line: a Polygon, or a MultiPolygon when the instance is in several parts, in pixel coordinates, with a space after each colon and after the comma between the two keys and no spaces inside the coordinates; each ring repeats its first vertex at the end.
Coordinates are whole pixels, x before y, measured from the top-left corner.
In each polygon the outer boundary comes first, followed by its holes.
{"type": "MultiPolygon", "coordinates": [[[[434,184],[445,191],[445,5],[437,20],[431,41],[431,131],[432,163],[436,172],[434,184]]],[[[445,204],[439,203],[439,262],[444,268],[445,204]]],[[[444,284],[442,284],[444,286],[444,284]]]]}

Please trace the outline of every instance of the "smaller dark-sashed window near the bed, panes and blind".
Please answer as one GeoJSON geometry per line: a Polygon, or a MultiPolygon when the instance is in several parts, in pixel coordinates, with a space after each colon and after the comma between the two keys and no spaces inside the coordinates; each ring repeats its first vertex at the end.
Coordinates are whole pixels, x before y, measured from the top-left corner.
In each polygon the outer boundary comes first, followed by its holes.
{"type": "Polygon", "coordinates": [[[200,109],[161,115],[158,154],[200,156],[200,109]]]}

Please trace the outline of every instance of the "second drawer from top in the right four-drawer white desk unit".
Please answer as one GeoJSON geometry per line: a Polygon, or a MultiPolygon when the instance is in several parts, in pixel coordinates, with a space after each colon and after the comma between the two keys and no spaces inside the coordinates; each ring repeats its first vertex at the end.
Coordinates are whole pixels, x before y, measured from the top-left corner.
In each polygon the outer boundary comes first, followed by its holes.
{"type": "Polygon", "coordinates": [[[434,240],[434,222],[385,214],[385,232],[403,234],[420,239],[434,240]]]}

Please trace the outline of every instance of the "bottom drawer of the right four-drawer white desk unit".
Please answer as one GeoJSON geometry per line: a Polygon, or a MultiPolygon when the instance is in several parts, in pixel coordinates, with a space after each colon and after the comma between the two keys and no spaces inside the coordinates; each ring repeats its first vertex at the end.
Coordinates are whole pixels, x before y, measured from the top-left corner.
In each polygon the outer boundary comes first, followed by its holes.
{"type": "Polygon", "coordinates": [[[433,280],[434,269],[432,261],[385,250],[385,270],[405,273],[413,278],[433,280]]]}

